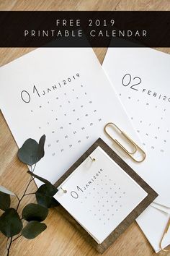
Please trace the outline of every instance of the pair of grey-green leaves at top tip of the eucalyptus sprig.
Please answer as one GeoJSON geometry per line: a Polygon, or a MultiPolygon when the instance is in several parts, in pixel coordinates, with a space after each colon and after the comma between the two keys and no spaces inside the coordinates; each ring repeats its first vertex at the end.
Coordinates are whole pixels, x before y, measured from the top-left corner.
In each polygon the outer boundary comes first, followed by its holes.
{"type": "Polygon", "coordinates": [[[26,140],[18,151],[19,160],[29,166],[37,163],[44,156],[44,144],[45,135],[42,135],[39,144],[33,139],[26,140]]]}

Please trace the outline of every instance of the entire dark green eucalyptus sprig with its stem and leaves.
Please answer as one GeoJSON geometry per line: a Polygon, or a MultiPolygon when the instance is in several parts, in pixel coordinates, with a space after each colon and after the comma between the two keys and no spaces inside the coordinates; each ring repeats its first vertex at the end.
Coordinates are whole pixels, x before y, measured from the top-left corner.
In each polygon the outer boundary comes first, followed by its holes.
{"type": "Polygon", "coordinates": [[[58,201],[53,197],[58,192],[58,189],[48,182],[47,179],[34,174],[37,162],[45,155],[44,145],[45,135],[42,135],[38,143],[32,139],[26,140],[22,148],[18,151],[19,160],[30,166],[30,171],[27,171],[27,173],[31,175],[22,197],[19,198],[14,192],[6,189],[6,187],[0,186],[0,209],[4,211],[0,216],[0,231],[7,237],[7,255],[9,255],[12,243],[20,236],[24,236],[27,239],[34,239],[42,233],[47,228],[42,221],[48,216],[48,208],[59,205],[58,201]],[[36,192],[27,193],[27,189],[34,179],[39,179],[44,184],[36,192]],[[20,203],[25,196],[32,194],[35,194],[37,204],[29,203],[25,205],[22,209],[22,215],[19,216],[18,210],[20,203]],[[17,197],[18,202],[16,208],[10,208],[11,196],[17,197]]]}

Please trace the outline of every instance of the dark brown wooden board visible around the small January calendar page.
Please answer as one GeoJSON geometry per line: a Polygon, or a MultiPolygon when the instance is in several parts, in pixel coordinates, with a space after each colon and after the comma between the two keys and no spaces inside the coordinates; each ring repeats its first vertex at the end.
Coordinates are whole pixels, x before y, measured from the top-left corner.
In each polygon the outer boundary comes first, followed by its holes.
{"type": "Polygon", "coordinates": [[[131,211],[131,213],[120,223],[120,225],[117,226],[117,228],[112,231],[109,236],[107,236],[107,239],[104,239],[104,242],[101,244],[98,244],[92,236],[65,210],[61,205],[58,207],[58,212],[62,214],[79,232],[82,236],[84,236],[84,239],[86,239],[89,244],[91,244],[92,247],[97,249],[97,252],[102,254],[109,246],[111,246],[115,240],[126,230],[128,229],[128,226],[130,226],[133,221],[135,221],[135,218],[137,218],[140,213],[145,210],[148,205],[153,202],[153,200],[158,196],[158,194],[143,180],[138,176],[138,174],[133,171],[130,166],[128,166],[125,161],[120,158],[119,155],[115,153],[115,151],[112,150],[112,148],[109,148],[109,146],[101,139],[99,138],[96,142],[94,142],[91,147],[86,150],[86,152],[81,155],[81,157],[76,161],[76,163],[73,163],[73,165],[66,171],[63,176],[61,176],[60,179],[58,179],[57,182],[55,182],[55,187],[59,187],[67,178],[72,174],[73,171],[76,170],[78,166],[81,165],[81,163],[86,160],[86,158],[89,158],[91,153],[97,148],[100,147],[102,150],[104,150],[107,155],[109,155],[110,158],[112,158],[115,163],[117,163],[118,166],[120,166],[136,183],[140,185],[147,193],[148,195],[138,204],[136,208],[131,211]]]}

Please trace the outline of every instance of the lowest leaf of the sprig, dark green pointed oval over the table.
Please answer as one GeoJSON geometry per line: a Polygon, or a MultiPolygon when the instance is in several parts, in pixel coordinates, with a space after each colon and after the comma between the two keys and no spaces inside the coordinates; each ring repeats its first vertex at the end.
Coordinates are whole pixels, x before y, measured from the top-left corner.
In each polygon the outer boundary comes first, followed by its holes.
{"type": "Polygon", "coordinates": [[[30,221],[27,223],[27,226],[25,226],[24,229],[22,229],[22,236],[24,236],[27,239],[34,239],[45,229],[47,229],[45,223],[40,223],[38,221],[30,221]]]}

